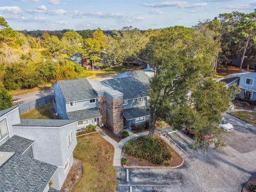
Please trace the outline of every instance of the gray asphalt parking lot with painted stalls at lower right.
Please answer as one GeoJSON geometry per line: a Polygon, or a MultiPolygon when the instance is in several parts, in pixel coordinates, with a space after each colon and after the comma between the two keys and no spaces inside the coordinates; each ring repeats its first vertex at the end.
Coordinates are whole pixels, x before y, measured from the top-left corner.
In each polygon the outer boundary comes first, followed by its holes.
{"type": "MultiPolygon", "coordinates": [[[[116,191],[241,191],[243,182],[256,173],[256,127],[225,115],[234,125],[234,131],[223,133],[227,147],[209,153],[191,150],[191,142],[181,132],[171,133],[189,156],[179,169],[126,169],[116,167],[116,191]],[[128,177],[127,177],[128,175],[128,177]]],[[[169,130],[170,131],[170,130],[169,130]]]]}

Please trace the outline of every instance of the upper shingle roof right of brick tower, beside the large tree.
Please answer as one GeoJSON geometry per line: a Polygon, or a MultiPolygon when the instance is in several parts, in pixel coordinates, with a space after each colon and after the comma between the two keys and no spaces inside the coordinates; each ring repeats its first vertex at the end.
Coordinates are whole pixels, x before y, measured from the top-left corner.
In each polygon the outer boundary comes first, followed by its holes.
{"type": "Polygon", "coordinates": [[[125,72],[129,77],[107,79],[103,82],[124,94],[123,99],[147,97],[150,89],[149,76],[144,71],[125,72]]]}

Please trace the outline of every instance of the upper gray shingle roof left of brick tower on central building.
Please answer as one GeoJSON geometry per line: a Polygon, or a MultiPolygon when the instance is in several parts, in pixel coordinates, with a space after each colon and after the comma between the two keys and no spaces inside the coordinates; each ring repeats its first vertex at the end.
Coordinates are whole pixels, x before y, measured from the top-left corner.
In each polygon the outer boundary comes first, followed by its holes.
{"type": "Polygon", "coordinates": [[[58,81],[66,102],[98,98],[86,78],[58,81]]]}

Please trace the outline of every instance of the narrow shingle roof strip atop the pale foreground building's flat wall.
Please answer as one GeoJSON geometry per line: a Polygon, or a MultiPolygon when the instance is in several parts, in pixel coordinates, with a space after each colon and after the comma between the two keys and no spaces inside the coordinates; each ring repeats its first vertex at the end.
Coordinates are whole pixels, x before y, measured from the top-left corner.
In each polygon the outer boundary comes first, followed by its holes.
{"type": "Polygon", "coordinates": [[[60,127],[69,123],[75,122],[74,120],[62,120],[62,119],[20,119],[20,124],[13,126],[53,126],[60,127]]]}

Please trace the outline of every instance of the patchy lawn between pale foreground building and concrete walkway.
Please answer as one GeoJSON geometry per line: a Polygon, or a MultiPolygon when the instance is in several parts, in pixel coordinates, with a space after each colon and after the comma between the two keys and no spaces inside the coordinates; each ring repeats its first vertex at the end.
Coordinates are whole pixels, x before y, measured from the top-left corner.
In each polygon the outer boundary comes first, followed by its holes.
{"type": "Polygon", "coordinates": [[[77,137],[73,154],[83,161],[83,177],[73,188],[73,192],[115,191],[114,147],[109,142],[98,133],[77,137]]]}

